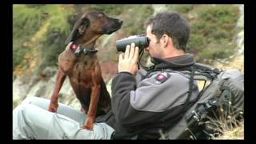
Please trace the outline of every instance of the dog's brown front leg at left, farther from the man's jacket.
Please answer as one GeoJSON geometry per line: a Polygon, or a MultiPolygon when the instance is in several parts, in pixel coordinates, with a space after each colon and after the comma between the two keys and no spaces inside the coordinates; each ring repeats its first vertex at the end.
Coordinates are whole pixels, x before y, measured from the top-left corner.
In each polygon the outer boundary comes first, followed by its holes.
{"type": "Polygon", "coordinates": [[[50,98],[50,105],[48,106],[48,110],[51,112],[56,112],[58,109],[58,92],[62,88],[62,84],[66,78],[66,74],[62,72],[60,67],[58,67],[58,72],[57,72],[57,78],[54,86],[54,92],[51,95],[50,98]]]}

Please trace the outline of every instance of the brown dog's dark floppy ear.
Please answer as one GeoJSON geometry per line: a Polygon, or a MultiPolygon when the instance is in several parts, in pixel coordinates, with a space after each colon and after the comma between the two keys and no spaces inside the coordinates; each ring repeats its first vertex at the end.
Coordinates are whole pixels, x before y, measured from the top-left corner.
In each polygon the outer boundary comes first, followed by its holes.
{"type": "Polygon", "coordinates": [[[90,25],[90,20],[88,18],[80,18],[77,22],[75,22],[73,30],[71,31],[68,38],[66,38],[65,44],[68,44],[71,41],[79,38],[86,28],[90,25]]]}

